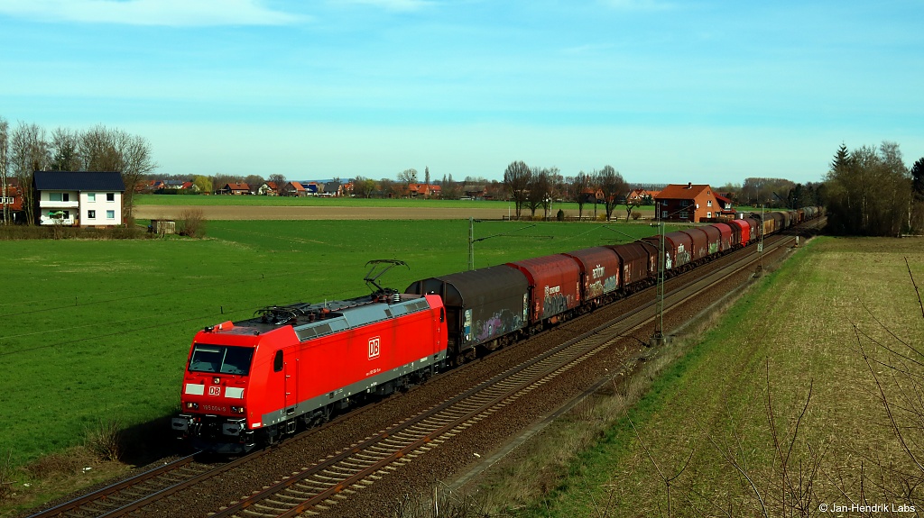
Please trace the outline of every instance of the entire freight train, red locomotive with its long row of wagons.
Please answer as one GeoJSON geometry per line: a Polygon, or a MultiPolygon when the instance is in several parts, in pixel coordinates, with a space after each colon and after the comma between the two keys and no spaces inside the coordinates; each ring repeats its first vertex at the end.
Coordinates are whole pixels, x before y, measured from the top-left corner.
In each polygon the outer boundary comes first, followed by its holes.
{"type": "MultiPolygon", "coordinates": [[[[664,272],[687,271],[819,216],[820,207],[805,207],[668,232],[664,272]]],[[[425,278],[403,293],[375,281],[402,263],[371,262],[371,295],[272,306],[197,333],[173,430],[216,453],[271,444],[653,285],[660,250],[658,235],[425,278]]]]}

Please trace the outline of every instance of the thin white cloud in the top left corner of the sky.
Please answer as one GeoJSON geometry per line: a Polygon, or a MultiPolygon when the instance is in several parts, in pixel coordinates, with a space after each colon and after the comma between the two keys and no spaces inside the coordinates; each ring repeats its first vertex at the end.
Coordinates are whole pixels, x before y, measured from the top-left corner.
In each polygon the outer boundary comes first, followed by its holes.
{"type": "Polygon", "coordinates": [[[0,0],[0,15],[171,27],[286,25],[305,19],[261,6],[260,0],[0,0]]]}

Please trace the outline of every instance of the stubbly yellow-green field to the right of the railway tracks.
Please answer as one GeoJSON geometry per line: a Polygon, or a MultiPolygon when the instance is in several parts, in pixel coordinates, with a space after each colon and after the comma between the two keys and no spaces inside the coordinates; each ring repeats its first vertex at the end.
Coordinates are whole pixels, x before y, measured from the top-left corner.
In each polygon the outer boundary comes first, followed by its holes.
{"type": "Polygon", "coordinates": [[[864,498],[919,511],[924,472],[860,352],[920,458],[924,316],[906,260],[920,286],[919,240],[812,241],[676,344],[686,354],[637,404],[611,397],[560,423],[541,446],[553,452],[508,468],[492,498],[521,516],[816,515],[864,498]]]}

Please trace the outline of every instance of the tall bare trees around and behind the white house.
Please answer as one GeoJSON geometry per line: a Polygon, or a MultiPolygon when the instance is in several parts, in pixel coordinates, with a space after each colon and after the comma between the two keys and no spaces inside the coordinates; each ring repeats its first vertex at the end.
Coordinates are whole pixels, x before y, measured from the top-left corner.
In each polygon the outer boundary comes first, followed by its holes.
{"type": "MultiPolygon", "coordinates": [[[[123,221],[130,222],[134,206],[133,186],[157,167],[151,144],[140,135],[98,124],[86,131],[58,127],[50,134],[38,124],[19,122],[11,127],[0,117],[0,182],[6,192],[16,179],[27,221],[35,220],[35,171],[118,171],[126,191],[123,221]]],[[[3,220],[9,221],[4,205],[3,220]]]]}

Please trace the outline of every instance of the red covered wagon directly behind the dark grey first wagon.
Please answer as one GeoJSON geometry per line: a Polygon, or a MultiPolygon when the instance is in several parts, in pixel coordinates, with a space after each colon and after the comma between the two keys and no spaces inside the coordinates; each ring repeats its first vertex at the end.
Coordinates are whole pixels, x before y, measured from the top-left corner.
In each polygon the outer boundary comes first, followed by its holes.
{"type": "Polygon", "coordinates": [[[529,280],[529,323],[536,324],[580,304],[580,266],[561,253],[526,259],[507,266],[529,280]]]}

